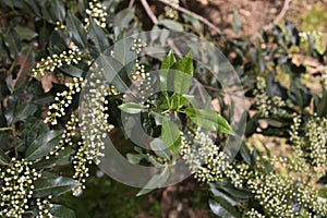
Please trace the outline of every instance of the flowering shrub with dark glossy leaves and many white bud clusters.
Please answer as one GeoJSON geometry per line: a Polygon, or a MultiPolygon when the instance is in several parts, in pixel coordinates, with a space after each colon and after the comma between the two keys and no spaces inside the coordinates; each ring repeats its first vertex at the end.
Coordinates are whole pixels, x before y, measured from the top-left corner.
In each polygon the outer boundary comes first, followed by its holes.
{"type": "MultiPolygon", "coordinates": [[[[117,12],[118,3],[0,3],[0,11],[10,16],[0,32],[0,70],[5,72],[0,95],[0,215],[74,217],[58,196],[78,196],[87,189],[89,167],[104,160],[108,135],[138,116],[153,138],[148,147],[130,142],[129,152],[122,153],[131,165],[159,170],[137,195],[169,184],[173,167],[183,161],[207,184],[209,206],[219,217],[327,216],[320,189],[325,184],[317,184],[324,183],[327,170],[327,71],[314,39],[301,38],[304,34],[286,21],[271,33],[263,32],[258,45],[241,38],[221,46],[227,57],[234,55],[231,62],[251,105],[241,114],[247,118],[246,129],[233,157],[227,145],[242,132],[229,124],[237,106],[225,101],[222,82],[193,60],[210,56],[210,50],[204,55],[194,44],[183,56],[175,49],[179,45],[170,44],[170,52],[158,51],[158,44],[171,43],[166,40],[167,28],[186,29],[184,22],[201,31],[199,24],[165,7],[165,19],[150,32],[149,43],[129,38],[142,27],[135,9],[117,12]],[[10,15],[12,9],[17,16],[10,15]],[[312,69],[299,62],[299,56],[311,56],[323,72],[308,74],[312,69]],[[196,87],[194,78],[218,99],[219,113],[194,104],[197,96],[189,93],[196,87]],[[257,135],[286,138],[290,154],[258,149],[251,144],[257,135]]],[[[135,126],[131,129],[126,137],[132,137],[135,126]]]]}

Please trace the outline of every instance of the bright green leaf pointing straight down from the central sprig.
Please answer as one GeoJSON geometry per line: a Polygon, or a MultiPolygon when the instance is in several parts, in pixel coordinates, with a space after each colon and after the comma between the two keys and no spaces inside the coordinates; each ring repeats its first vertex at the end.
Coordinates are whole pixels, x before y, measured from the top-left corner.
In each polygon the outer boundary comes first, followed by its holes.
{"type": "Polygon", "coordinates": [[[174,154],[178,154],[181,146],[181,134],[179,126],[174,122],[165,119],[162,121],[161,136],[166,146],[169,147],[174,154]]]}

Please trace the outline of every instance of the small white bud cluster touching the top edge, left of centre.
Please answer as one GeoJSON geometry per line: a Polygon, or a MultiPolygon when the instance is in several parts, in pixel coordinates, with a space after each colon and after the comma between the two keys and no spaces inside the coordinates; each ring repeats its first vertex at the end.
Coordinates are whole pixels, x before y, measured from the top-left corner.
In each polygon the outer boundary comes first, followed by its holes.
{"type": "MultiPolygon", "coordinates": [[[[102,28],[106,28],[107,21],[107,8],[102,5],[98,0],[93,0],[88,2],[88,9],[86,9],[86,14],[93,17],[96,24],[102,28]]],[[[86,27],[89,25],[88,17],[85,19],[86,27]]]]}

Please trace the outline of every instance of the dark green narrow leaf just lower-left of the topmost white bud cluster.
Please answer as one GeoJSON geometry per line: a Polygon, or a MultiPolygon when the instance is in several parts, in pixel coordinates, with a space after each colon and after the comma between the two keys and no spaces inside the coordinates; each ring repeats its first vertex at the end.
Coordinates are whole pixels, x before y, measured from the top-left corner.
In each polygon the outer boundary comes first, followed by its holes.
{"type": "Polygon", "coordinates": [[[85,49],[88,41],[82,22],[74,14],[69,12],[65,23],[73,41],[78,48],[85,49]]]}

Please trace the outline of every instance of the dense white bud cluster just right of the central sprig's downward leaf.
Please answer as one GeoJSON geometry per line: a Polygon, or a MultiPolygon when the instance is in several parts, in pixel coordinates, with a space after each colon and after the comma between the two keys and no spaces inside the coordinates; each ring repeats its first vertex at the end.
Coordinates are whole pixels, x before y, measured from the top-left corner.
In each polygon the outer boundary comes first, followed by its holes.
{"type": "Polygon", "coordinates": [[[201,132],[201,129],[197,129],[194,135],[189,133],[192,140],[186,140],[183,133],[181,135],[180,154],[195,179],[201,182],[221,182],[229,179],[235,187],[243,186],[243,174],[246,174],[245,165],[240,167],[242,172],[239,173],[230,162],[229,156],[214,144],[208,134],[201,132]]]}

